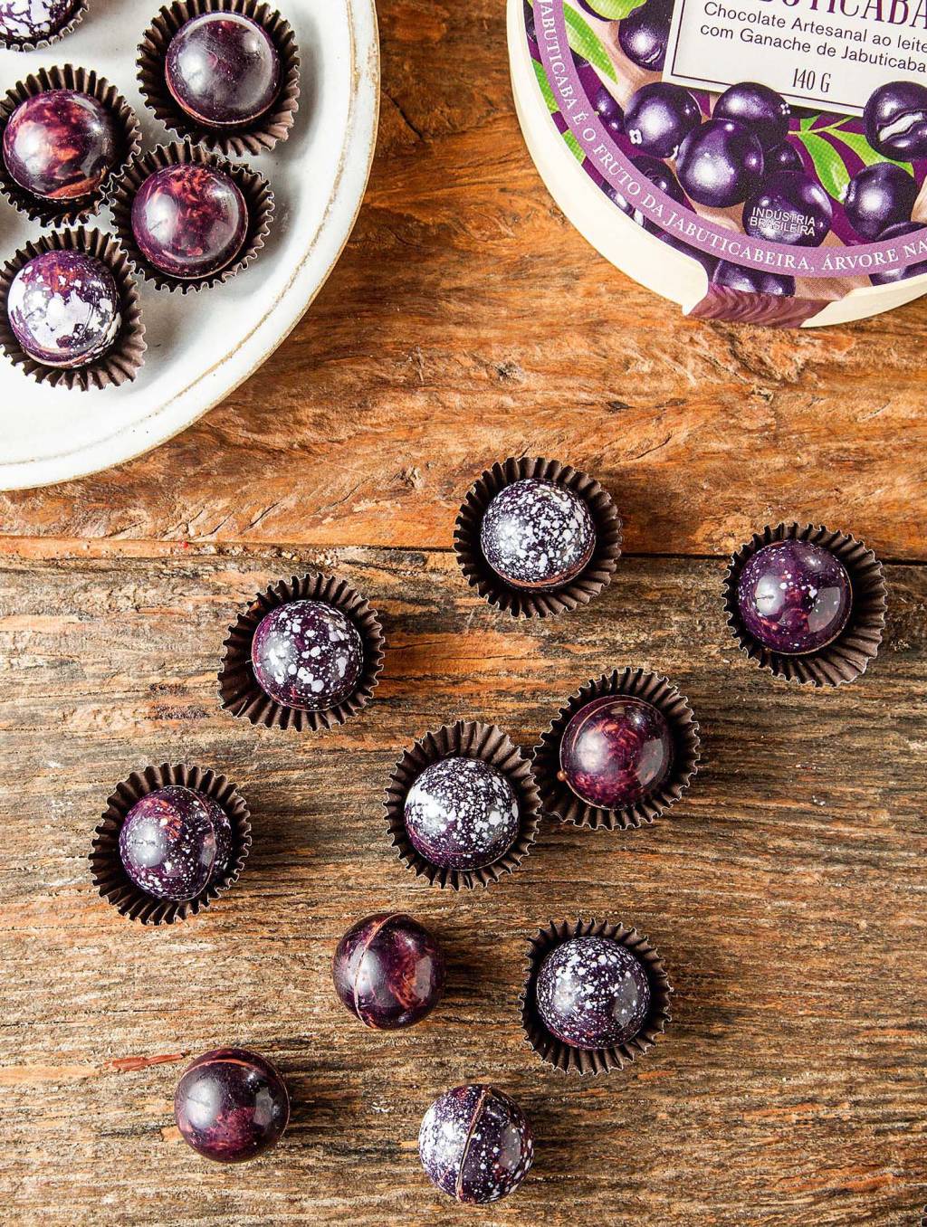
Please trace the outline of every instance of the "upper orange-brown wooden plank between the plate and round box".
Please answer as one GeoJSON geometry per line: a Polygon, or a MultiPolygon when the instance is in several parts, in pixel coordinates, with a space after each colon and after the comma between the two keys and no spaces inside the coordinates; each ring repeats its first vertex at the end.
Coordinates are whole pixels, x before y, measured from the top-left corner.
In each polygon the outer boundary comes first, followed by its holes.
{"type": "Polygon", "coordinates": [[[444,547],[473,479],[527,453],[598,476],[634,552],[807,518],[925,558],[927,307],[802,334],[683,320],[540,183],[502,0],[378,7],[371,188],[302,325],[151,455],[0,497],[2,531],[444,547]]]}

